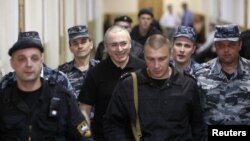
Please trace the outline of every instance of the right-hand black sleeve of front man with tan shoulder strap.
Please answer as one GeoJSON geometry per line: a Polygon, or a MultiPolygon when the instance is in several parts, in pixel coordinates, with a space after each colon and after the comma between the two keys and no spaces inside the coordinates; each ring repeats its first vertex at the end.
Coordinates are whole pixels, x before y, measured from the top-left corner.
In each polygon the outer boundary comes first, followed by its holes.
{"type": "Polygon", "coordinates": [[[193,141],[204,141],[205,140],[205,123],[203,119],[203,96],[199,91],[196,83],[193,93],[193,104],[192,104],[192,115],[191,115],[191,126],[192,126],[192,137],[193,141]]]}

